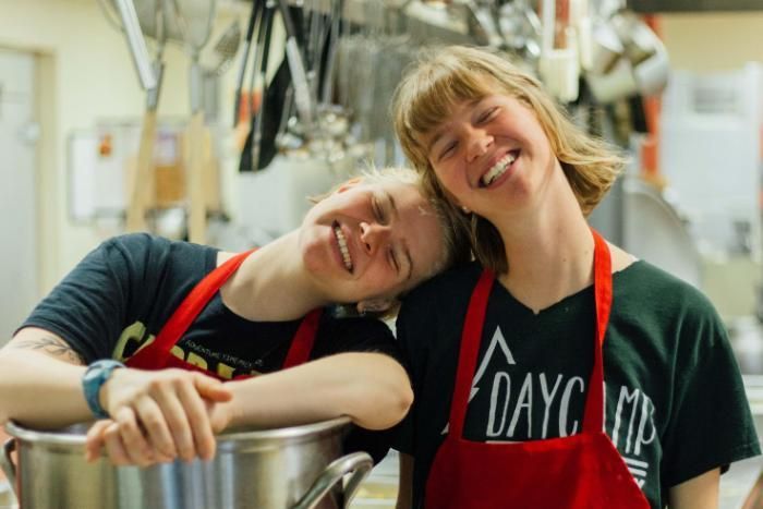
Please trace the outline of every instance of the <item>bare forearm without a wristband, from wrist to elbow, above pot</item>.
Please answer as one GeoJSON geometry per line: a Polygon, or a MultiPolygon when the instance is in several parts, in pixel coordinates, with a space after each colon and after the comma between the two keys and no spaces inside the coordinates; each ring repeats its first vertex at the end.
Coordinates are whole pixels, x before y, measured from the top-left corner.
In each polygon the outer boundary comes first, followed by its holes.
{"type": "Polygon", "coordinates": [[[367,429],[385,429],[413,400],[403,367],[380,353],[340,353],[228,386],[232,426],[290,426],[347,415],[367,429]]]}

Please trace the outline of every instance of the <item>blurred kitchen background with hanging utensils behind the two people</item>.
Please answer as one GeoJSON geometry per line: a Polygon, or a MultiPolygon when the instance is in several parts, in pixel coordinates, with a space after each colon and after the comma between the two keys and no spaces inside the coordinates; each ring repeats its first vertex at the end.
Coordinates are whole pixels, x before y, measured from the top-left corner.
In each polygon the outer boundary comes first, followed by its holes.
{"type": "MultiPolygon", "coordinates": [[[[108,237],[243,250],[298,226],[307,196],[404,162],[402,70],[471,44],[627,150],[591,221],[711,298],[763,428],[763,0],[286,3],[0,0],[0,344],[108,237]]],[[[353,507],[393,507],[396,461],[353,507]]],[[[724,476],[724,508],[762,464],[724,476]]]]}

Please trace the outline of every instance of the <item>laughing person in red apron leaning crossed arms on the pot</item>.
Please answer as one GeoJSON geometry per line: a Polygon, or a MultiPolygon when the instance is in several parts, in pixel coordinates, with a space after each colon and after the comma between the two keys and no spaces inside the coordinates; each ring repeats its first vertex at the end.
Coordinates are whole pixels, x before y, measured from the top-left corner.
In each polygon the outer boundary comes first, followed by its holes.
{"type": "Polygon", "coordinates": [[[379,460],[368,431],[402,419],[410,381],[383,322],[330,305],[384,313],[461,256],[419,184],[410,170],[350,181],[254,252],[105,242],[0,350],[0,423],[105,419],[88,456],[105,445],[114,463],[148,465],[211,458],[228,427],[348,415],[349,447],[379,460]]]}

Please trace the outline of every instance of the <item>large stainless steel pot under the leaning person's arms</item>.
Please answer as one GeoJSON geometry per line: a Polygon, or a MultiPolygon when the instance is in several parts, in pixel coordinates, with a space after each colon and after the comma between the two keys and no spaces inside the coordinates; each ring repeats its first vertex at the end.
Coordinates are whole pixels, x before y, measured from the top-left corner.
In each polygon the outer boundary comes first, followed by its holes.
{"type": "Polygon", "coordinates": [[[334,509],[347,507],[373,465],[365,452],[341,456],[349,426],[340,417],[228,433],[209,462],[141,469],[106,456],[87,463],[87,425],[38,432],[9,423],[0,464],[23,509],[334,509]]]}

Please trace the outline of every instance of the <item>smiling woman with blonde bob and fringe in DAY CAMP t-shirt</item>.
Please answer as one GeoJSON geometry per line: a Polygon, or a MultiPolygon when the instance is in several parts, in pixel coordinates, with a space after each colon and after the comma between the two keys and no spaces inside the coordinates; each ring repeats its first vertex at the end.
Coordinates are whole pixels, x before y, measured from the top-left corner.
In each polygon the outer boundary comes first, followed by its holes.
{"type": "Polygon", "coordinates": [[[425,54],[395,125],[477,257],[398,318],[415,400],[398,506],[717,507],[758,437],[712,304],[586,222],[623,160],[475,48],[425,54]]]}

